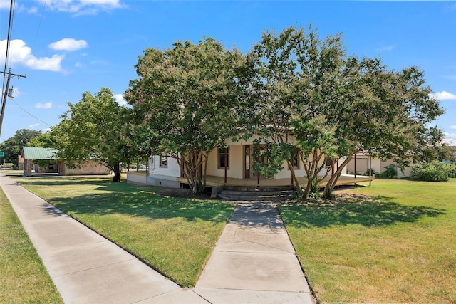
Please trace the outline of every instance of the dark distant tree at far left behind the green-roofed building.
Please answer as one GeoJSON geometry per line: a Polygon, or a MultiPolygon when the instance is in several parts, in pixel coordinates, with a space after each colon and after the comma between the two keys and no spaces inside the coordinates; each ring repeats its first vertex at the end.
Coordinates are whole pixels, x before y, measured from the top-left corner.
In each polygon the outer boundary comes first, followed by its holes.
{"type": "Polygon", "coordinates": [[[41,135],[41,131],[21,129],[17,130],[13,137],[0,144],[0,151],[4,152],[4,162],[18,165],[18,154],[21,154],[22,147],[26,146],[33,138],[41,135]]]}

